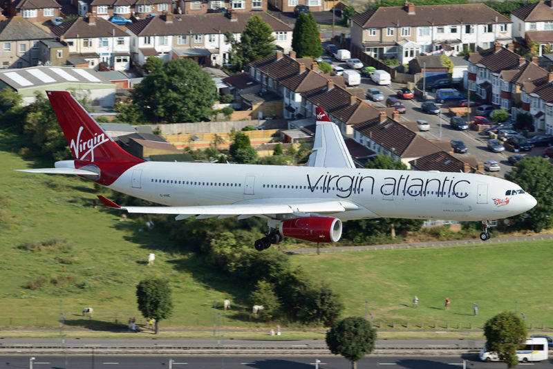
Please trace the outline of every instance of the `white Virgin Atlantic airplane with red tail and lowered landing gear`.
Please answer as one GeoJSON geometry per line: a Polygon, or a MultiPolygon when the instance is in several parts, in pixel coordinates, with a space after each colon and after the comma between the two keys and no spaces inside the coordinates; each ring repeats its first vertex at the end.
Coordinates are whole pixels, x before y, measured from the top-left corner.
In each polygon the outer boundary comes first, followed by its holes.
{"type": "Polygon", "coordinates": [[[256,240],[263,250],[283,237],[336,242],[342,221],[362,218],[481,220],[532,209],[536,200],[518,185],[474,173],[357,169],[337,126],[317,108],[314,152],[306,167],[147,162],[127,153],[106,134],[71,93],[48,91],[75,160],[31,173],[75,174],[115,191],[164,205],[107,207],[129,213],[174,214],[176,220],[267,219],[256,240]]]}

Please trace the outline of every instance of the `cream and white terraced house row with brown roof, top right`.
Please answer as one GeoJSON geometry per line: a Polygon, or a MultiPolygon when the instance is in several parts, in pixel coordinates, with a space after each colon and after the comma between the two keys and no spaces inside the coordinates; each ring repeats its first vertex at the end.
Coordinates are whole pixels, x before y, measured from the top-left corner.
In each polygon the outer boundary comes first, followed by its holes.
{"type": "Polygon", "coordinates": [[[352,45],[378,59],[407,64],[424,53],[457,55],[512,41],[512,21],[483,3],[380,7],[352,18],[352,45]]]}

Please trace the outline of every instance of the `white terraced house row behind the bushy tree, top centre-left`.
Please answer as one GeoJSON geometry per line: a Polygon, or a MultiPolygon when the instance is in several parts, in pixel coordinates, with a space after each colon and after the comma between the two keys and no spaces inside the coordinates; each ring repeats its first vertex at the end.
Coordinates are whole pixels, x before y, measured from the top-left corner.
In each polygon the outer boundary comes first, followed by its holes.
{"type": "Polygon", "coordinates": [[[240,39],[247,21],[259,15],[273,29],[277,48],[288,52],[292,48],[292,28],[266,12],[213,13],[203,15],[160,15],[129,24],[134,61],[144,64],[147,57],[158,56],[165,61],[191,58],[201,66],[223,66],[229,61],[230,44],[225,36],[232,32],[240,39]]]}

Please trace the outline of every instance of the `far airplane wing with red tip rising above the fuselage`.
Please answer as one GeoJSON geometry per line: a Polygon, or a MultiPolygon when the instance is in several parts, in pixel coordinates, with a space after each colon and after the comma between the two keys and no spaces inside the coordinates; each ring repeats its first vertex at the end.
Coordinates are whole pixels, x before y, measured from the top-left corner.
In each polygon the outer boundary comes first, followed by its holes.
{"type": "Polygon", "coordinates": [[[337,124],[332,123],[321,108],[317,108],[317,129],[315,142],[313,142],[313,153],[309,155],[306,167],[355,169],[355,164],[337,124]]]}

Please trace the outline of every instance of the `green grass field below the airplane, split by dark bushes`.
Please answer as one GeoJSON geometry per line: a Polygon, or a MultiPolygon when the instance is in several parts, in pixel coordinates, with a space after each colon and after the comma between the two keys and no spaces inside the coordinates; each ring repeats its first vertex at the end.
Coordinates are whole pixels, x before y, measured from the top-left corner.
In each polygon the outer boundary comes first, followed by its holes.
{"type": "MultiPolygon", "coordinates": [[[[164,276],[171,281],[175,310],[161,323],[162,332],[210,330],[216,321],[218,327],[238,330],[261,326],[259,334],[265,334],[263,325],[244,314],[247,296],[241,286],[192,254],[171,252],[174,245],[164,234],[139,231],[142,224],[94,209],[90,182],[13,171],[32,163],[13,153],[8,141],[0,133],[0,327],[57,328],[62,309],[67,328],[115,334],[129,316],[144,322],[135,285],[145,276],[164,276]],[[156,254],[153,267],[145,263],[149,252],[156,254]],[[221,306],[225,296],[233,310],[214,310],[214,300],[221,306]],[[88,306],[95,310],[93,319],[80,316],[88,306]]],[[[364,316],[368,308],[383,329],[393,321],[398,329],[407,321],[410,329],[420,329],[421,322],[429,328],[434,321],[443,327],[449,322],[450,328],[473,323],[476,329],[496,312],[513,310],[516,300],[528,324],[551,329],[552,254],[550,243],[534,242],[292,256],[292,261],[316,278],[323,276],[344,296],[346,316],[364,316]],[[411,308],[415,294],[417,310],[411,308]],[[447,296],[451,308],[444,311],[447,296]],[[476,317],[471,316],[474,302],[480,307],[476,317]]]]}

